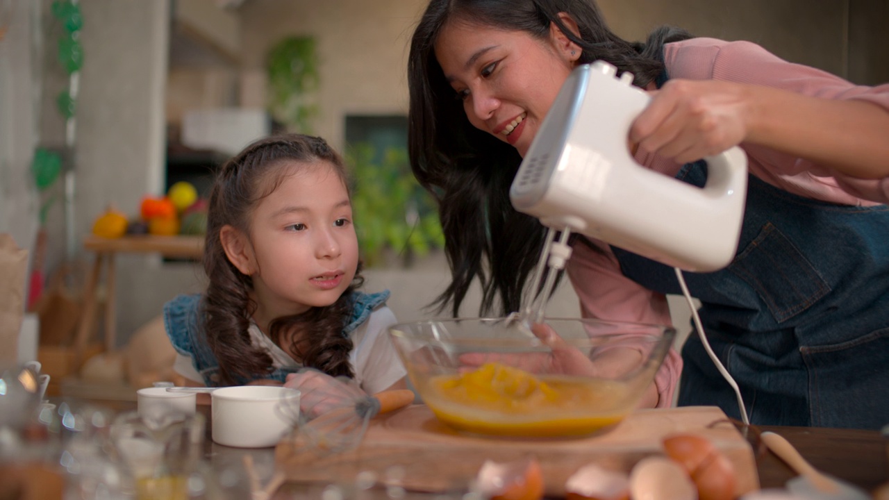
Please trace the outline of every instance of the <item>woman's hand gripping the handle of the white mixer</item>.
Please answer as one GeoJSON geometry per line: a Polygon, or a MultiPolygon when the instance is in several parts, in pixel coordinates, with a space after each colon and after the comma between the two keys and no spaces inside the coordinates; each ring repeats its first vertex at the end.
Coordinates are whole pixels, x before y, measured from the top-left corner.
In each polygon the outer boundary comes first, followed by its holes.
{"type": "Polygon", "coordinates": [[[669,80],[633,122],[629,141],[678,164],[717,155],[748,133],[749,85],[669,80]]]}

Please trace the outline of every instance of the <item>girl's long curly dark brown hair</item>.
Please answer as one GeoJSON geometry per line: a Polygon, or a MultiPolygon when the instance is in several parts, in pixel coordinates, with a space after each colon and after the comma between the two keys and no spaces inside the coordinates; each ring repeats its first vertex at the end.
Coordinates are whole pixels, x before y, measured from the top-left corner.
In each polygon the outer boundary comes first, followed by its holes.
{"type": "MultiPolygon", "coordinates": [[[[228,262],[220,242],[220,230],[230,225],[250,235],[250,214],[262,198],[271,194],[294,168],[330,165],[348,187],[342,158],[323,139],[284,134],[255,141],[222,165],[210,191],[204,271],[209,284],[202,302],[204,334],[220,366],[220,384],[238,379],[261,378],[272,371],[266,351],[253,347],[247,328],[257,304],[250,298],[252,280],[228,262]]],[[[340,298],[326,307],[274,319],[268,335],[284,348],[297,353],[304,366],[330,375],[353,377],[348,362],[352,341],[342,335],[351,318],[352,293],[362,285],[358,263],[355,278],[340,298]],[[288,349],[289,347],[289,349],[288,349]]]]}

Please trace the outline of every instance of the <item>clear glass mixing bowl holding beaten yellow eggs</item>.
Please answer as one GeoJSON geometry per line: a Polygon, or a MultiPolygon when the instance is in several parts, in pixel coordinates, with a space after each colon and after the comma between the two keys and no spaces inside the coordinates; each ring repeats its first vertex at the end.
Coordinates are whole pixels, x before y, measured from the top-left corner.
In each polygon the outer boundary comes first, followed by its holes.
{"type": "Polygon", "coordinates": [[[653,383],[671,327],[545,319],[558,337],[508,319],[389,327],[414,389],[443,423],[485,436],[568,438],[607,431],[653,383]],[[543,339],[543,340],[541,340],[543,339]]]}

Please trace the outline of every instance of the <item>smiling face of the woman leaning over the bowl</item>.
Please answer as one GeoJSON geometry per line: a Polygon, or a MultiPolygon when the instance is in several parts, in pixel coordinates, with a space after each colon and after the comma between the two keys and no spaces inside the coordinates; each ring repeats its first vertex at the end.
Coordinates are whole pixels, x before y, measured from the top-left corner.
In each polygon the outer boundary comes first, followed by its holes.
{"type": "Polygon", "coordinates": [[[556,28],[540,40],[465,22],[445,25],[435,52],[469,123],[523,157],[581,53],[556,28]]]}

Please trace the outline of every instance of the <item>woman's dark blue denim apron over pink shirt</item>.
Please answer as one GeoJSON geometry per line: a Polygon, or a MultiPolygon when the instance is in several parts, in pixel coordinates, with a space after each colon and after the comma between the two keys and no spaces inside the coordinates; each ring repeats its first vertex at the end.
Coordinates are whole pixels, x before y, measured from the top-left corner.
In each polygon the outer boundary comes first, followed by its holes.
{"type": "MultiPolygon", "coordinates": [[[[706,165],[685,165],[677,179],[700,187],[706,165]]],[[[750,423],[889,423],[889,206],[803,198],[749,175],[738,248],[724,270],[684,275],[750,423]]],[[[613,250],[627,277],[682,293],[669,266],[613,250]]],[[[740,418],[695,331],[682,357],[679,405],[718,406],[740,418]]]]}

